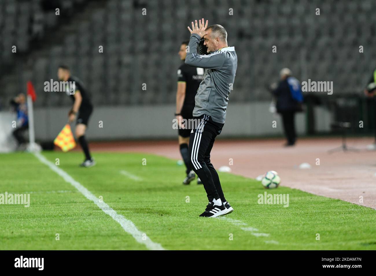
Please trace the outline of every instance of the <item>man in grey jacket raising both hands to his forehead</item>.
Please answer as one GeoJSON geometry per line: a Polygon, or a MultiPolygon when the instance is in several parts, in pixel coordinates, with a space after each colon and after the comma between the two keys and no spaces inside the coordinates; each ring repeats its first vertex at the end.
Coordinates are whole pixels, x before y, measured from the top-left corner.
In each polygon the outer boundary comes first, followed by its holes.
{"type": "Polygon", "coordinates": [[[195,97],[194,118],[200,123],[191,132],[189,152],[194,172],[201,179],[208,195],[209,204],[202,217],[217,217],[228,214],[233,208],[223,195],[218,173],[210,162],[210,152],[215,137],[221,133],[226,119],[227,102],[235,80],[238,64],[234,47],[227,46],[227,32],[220,25],[189,27],[191,38],[185,63],[190,66],[205,68],[204,78],[195,97]],[[205,39],[208,55],[197,54],[197,44],[205,39]]]}

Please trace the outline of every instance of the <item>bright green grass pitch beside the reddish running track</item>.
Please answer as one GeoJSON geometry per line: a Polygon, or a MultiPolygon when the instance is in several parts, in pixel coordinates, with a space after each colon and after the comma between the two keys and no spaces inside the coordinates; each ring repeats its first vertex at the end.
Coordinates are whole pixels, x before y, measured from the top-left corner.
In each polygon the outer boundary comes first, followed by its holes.
{"type": "MultiPolygon", "coordinates": [[[[376,249],[371,208],[287,187],[265,190],[254,179],[219,173],[235,211],[208,219],[199,217],[208,203],[203,186],[196,181],[183,186],[184,168],[176,160],[95,153],[97,165],[81,168],[80,152],[42,154],[54,164],[59,158],[62,170],[164,249],[376,249]],[[289,207],[258,204],[265,191],[289,194],[289,207]]],[[[0,193],[30,193],[29,208],[0,205],[0,249],[146,249],[32,154],[1,154],[0,168],[0,193]]]]}

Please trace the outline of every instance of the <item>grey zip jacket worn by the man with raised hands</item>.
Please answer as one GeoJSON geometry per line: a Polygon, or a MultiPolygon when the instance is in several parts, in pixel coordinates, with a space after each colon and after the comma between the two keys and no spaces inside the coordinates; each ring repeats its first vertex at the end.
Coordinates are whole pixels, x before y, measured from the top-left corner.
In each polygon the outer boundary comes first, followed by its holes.
{"type": "Polygon", "coordinates": [[[214,122],[224,124],[238,57],[234,47],[223,47],[209,55],[197,54],[199,42],[200,36],[192,34],[189,42],[190,51],[185,57],[185,64],[205,68],[204,78],[195,97],[193,116],[206,114],[211,116],[214,122]]]}

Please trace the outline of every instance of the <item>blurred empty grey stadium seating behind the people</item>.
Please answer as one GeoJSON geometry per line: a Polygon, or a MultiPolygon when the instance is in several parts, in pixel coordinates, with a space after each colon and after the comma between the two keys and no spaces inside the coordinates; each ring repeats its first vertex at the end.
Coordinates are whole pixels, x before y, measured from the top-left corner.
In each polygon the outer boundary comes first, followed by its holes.
{"type": "Polygon", "coordinates": [[[269,99],[265,85],[276,81],[283,67],[300,81],[334,81],[335,94],[361,92],[375,67],[374,1],[68,0],[46,5],[0,0],[3,107],[25,92],[29,79],[38,95],[36,107],[70,104],[64,94],[43,90],[45,81],[56,80],[60,63],[72,68],[97,106],[174,103],[177,51],[189,38],[186,26],[202,17],[223,25],[237,51],[233,102],[269,99]],[[61,15],[55,15],[54,5],[60,5],[61,15]],[[207,6],[217,9],[205,14],[207,6]]]}

